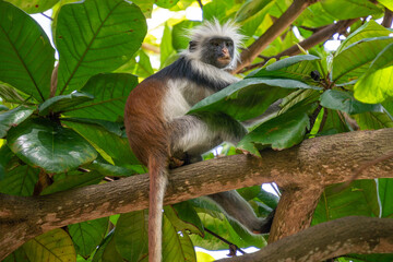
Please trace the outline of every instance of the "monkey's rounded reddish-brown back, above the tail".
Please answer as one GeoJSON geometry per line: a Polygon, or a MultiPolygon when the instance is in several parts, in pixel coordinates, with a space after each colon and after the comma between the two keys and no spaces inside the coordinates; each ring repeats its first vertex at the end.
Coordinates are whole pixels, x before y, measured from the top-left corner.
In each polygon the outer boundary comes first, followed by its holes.
{"type": "Polygon", "coordinates": [[[124,124],[130,145],[136,157],[147,165],[151,155],[168,155],[163,96],[166,80],[147,78],[129,95],[124,108],[124,124]]]}

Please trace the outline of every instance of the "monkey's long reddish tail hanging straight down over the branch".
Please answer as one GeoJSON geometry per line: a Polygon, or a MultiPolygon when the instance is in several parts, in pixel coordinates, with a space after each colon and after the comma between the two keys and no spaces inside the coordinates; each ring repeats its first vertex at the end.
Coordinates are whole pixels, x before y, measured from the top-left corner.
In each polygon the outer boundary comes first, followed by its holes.
{"type": "Polygon", "coordinates": [[[157,155],[148,159],[150,193],[148,193],[148,261],[162,261],[163,238],[163,202],[168,182],[166,157],[157,155]]]}

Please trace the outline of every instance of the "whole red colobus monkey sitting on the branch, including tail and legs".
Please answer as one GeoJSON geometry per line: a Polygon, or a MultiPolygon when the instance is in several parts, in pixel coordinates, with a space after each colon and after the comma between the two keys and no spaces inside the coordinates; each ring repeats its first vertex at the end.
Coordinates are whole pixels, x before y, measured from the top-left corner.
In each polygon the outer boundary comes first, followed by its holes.
{"type": "MultiPolygon", "coordinates": [[[[124,123],[130,145],[150,171],[150,262],[162,258],[162,210],[170,160],[194,163],[223,141],[237,144],[247,133],[224,114],[214,119],[186,115],[201,99],[238,81],[227,71],[237,63],[240,40],[231,23],[195,27],[188,50],[141,82],[127,100],[124,123]]],[[[209,196],[250,231],[269,233],[271,218],[257,217],[236,191],[209,196]]]]}

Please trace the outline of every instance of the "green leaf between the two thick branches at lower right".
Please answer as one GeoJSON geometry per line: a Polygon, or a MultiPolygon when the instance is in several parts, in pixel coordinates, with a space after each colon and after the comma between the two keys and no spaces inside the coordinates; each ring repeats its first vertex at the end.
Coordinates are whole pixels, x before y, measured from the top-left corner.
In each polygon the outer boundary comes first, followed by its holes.
{"type": "Polygon", "coordinates": [[[377,183],[374,180],[357,180],[343,189],[343,184],[329,186],[315,209],[312,224],[344,216],[379,216],[377,183]]]}

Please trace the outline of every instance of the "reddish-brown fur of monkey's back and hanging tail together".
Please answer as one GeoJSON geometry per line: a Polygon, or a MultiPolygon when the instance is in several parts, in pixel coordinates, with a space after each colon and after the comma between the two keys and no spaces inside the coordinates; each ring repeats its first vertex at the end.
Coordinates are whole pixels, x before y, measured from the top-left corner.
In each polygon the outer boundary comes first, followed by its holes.
{"type": "Polygon", "coordinates": [[[167,183],[169,145],[163,116],[166,81],[146,79],[131,93],[126,104],[124,124],[132,151],[148,167],[148,261],[160,261],[163,202],[167,183]]]}

